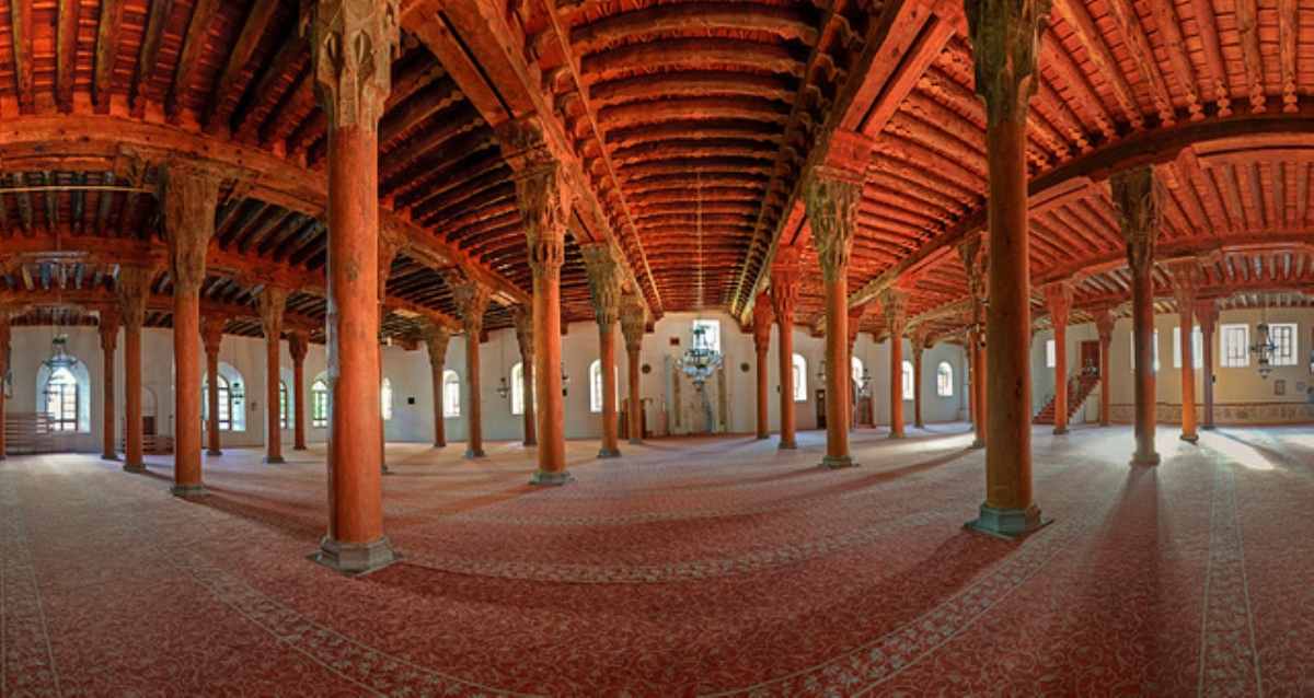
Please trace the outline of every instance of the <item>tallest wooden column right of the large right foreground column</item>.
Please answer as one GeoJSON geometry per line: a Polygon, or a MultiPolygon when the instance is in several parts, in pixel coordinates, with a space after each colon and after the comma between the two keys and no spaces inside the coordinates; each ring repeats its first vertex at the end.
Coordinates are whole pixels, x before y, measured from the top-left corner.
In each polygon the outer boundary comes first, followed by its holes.
{"type": "Polygon", "coordinates": [[[1131,464],[1159,463],[1155,450],[1154,370],[1154,251],[1163,224],[1164,189],[1152,167],[1120,172],[1109,178],[1118,228],[1127,244],[1131,273],[1131,337],[1135,349],[1135,434],[1131,464]]]}

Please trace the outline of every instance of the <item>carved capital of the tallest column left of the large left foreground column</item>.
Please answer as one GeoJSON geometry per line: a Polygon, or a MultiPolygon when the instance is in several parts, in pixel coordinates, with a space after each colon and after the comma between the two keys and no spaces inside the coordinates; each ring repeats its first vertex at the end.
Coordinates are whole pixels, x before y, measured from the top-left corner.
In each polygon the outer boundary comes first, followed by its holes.
{"type": "Polygon", "coordinates": [[[173,295],[200,293],[205,282],[205,251],[214,236],[222,180],[218,171],[191,163],[164,168],[164,230],[173,295]]]}

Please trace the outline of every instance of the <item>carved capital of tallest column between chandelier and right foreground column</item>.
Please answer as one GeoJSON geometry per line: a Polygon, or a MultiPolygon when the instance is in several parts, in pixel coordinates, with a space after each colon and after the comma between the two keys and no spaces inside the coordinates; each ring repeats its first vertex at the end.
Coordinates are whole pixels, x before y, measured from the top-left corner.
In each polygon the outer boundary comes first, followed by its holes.
{"type": "Polygon", "coordinates": [[[858,230],[862,180],[850,173],[813,169],[804,184],[812,243],[825,281],[848,278],[853,235],[858,230]]]}

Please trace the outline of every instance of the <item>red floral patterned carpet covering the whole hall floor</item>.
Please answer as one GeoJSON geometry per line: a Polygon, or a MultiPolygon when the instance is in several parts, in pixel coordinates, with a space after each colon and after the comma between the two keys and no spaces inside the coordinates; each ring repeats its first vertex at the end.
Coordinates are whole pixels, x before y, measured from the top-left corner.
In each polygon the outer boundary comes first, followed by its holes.
{"type": "Polygon", "coordinates": [[[1021,542],[963,529],[964,425],[389,447],[398,564],[305,559],[323,450],[206,458],[212,496],[87,455],[0,462],[3,695],[1314,695],[1314,436],[1035,432],[1021,542]]]}

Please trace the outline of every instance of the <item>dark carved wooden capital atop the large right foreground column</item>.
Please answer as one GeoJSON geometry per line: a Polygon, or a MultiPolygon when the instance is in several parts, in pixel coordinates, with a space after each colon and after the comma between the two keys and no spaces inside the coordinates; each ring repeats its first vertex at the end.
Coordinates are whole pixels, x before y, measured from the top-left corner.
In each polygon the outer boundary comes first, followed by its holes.
{"type": "Polygon", "coordinates": [[[964,0],[976,93],[988,122],[1025,121],[1039,81],[1041,35],[1050,0],[964,0]]]}

